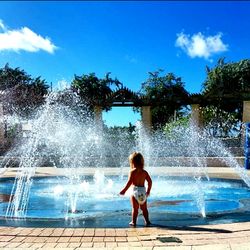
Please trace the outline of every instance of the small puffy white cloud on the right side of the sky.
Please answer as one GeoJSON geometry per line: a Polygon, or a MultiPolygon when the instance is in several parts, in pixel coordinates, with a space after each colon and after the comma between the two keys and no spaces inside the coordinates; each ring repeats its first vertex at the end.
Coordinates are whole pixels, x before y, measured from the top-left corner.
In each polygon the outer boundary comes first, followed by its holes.
{"type": "Polygon", "coordinates": [[[205,37],[199,32],[190,37],[190,35],[182,32],[177,34],[175,46],[180,47],[191,58],[201,57],[210,59],[214,54],[228,50],[228,45],[223,43],[221,37],[222,33],[205,37]]]}

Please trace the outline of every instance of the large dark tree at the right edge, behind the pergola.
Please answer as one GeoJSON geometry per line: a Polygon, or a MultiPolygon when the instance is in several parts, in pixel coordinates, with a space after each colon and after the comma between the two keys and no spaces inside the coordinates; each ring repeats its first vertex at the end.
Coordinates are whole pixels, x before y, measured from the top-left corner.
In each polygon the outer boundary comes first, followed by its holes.
{"type": "Polygon", "coordinates": [[[243,100],[250,97],[250,60],[225,63],[221,58],[213,69],[207,67],[206,71],[202,90],[209,104],[203,111],[205,124],[213,124],[213,135],[235,134],[232,131],[242,120],[243,100]]]}

